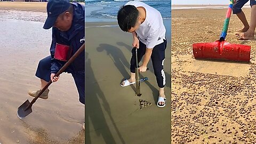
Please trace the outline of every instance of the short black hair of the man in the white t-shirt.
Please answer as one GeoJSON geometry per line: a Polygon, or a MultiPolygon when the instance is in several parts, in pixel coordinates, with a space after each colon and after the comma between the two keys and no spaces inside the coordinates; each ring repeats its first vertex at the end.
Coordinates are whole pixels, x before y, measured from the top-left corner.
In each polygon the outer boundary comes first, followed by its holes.
{"type": "Polygon", "coordinates": [[[123,31],[128,31],[135,26],[138,21],[139,11],[133,5],[121,7],[117,14],[117,22],[123,31]]]}

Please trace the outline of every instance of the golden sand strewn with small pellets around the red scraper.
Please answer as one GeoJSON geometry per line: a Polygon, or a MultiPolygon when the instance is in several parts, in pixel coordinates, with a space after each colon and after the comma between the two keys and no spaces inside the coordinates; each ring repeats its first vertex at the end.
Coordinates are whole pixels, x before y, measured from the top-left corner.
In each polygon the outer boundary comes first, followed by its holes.
{"type": "Polygon", "coordinates": [[[250,63],[193,58],[193,43],[218,40],[226,11],[172,10],[172,143],[256,142],[255,39],[236,39],[243,25],[231,15],[226,41],[251,45],[250,63]]]}

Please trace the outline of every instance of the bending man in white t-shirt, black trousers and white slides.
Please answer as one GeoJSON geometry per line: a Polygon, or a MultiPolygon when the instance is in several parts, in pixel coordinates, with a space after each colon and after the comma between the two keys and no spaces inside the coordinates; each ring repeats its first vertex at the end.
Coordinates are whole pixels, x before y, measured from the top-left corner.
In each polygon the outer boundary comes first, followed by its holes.
{"type": "MultiPolygon", "coordinates": [[[[146,71],[147,64],[151,58],[156,81],[159,86],[157,106],[165,107],[164,59],[167,42],[161,13],[145,3],[130,1],[118,11],[117,21],[123,31],[132,33],[132,45],[138,48],[138,61],[141,61],[144,55],[140,72],[146,71]]],[[[135,57],[135,49],[133,49],[130,67],[131,77],[123,81],[120,84],[121,86],[135,83],[135,57]]]]}

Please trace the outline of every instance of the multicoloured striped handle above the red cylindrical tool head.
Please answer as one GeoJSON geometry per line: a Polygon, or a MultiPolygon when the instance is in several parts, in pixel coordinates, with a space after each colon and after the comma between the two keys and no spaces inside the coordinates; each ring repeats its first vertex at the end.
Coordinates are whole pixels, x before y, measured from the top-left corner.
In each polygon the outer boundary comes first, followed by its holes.
{"type": "Polygon", "coordinates": [[[223,25],[221,35],[220,35],[220,41],[221,42],[224,41],[226,36],[227,36],[228,25],[229,25],[229,20],[230,20],[230,15],[231,15],[231,12],[232,12],[233,4],[234,4],[234,0],[230,0],[230,3],[228,5],[228,11],[227,11],[227,14],[226,14],[226,19],[224,21],[224,25],[223,25]]]}

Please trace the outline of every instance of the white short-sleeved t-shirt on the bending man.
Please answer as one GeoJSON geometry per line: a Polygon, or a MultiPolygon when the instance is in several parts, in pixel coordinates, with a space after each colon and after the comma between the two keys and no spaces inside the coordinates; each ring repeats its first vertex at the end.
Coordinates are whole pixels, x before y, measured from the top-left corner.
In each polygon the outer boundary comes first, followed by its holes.
{"type": "Polygon", "coordinates": [[[146,19],[135,32],[140,41],[145,44],[147,48],[153,49],[156,45],[164,42],[163,39],[165,39],[166,30],[162,15],[159,11],[140,1],[130,1],[125,5],[144,7],[146,10],[146,19]]]}

